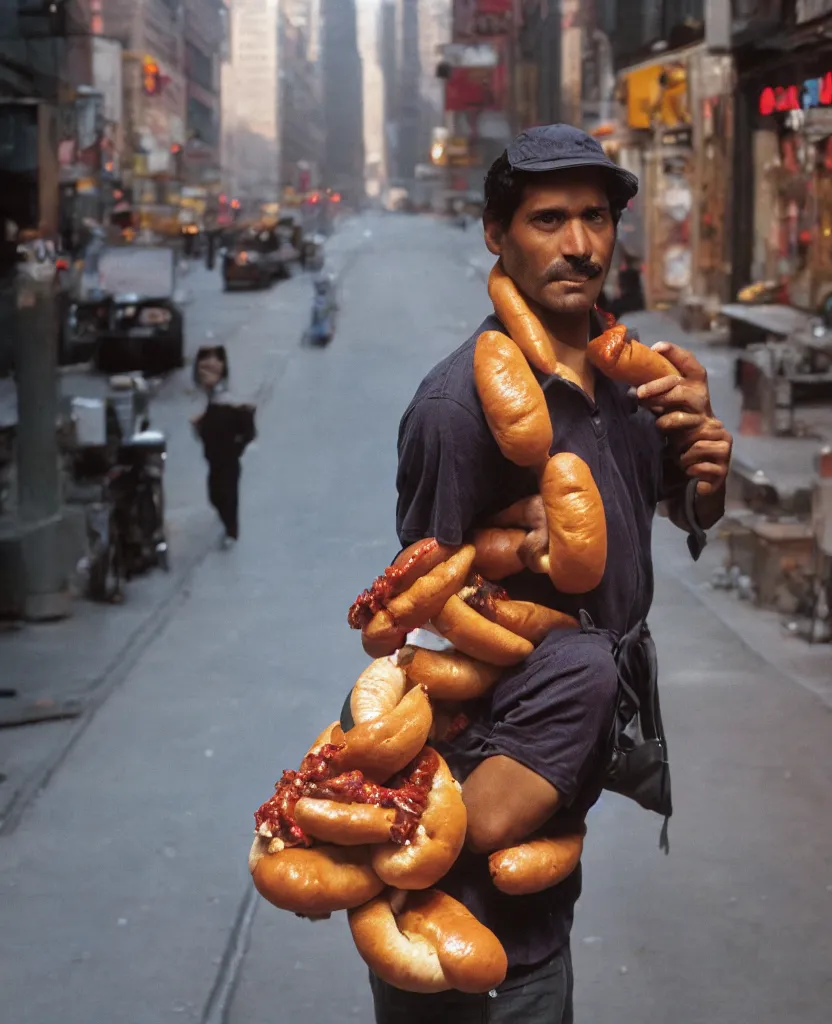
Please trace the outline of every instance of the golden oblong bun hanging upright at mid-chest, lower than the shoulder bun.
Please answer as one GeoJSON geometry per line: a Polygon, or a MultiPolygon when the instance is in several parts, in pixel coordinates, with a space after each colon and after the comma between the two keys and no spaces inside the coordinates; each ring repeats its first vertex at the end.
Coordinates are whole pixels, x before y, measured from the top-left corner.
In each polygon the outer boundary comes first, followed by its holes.
{"type": "Polygon", "coordinates": [[[589,466],[563,452],[546,463],[540,493],[549,527],[549,577],[564,594],[587,594],[607,566],[607,518],[589,466]]]}

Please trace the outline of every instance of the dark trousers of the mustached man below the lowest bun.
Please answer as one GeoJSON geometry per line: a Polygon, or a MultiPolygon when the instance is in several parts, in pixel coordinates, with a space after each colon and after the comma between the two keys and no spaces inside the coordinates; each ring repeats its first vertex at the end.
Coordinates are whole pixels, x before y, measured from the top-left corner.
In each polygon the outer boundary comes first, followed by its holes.
{"type": "Polygon", "coordinates": [[[495,995],[403,992],[370,975],[376,1024],[573,1024],[569,946],[551,961],[509,977],[495,995]]]}

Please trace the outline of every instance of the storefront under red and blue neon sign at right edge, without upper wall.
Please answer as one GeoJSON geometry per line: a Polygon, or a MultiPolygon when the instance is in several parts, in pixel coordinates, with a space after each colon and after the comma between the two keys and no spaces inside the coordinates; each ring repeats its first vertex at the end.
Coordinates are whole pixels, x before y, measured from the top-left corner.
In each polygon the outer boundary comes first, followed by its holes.
{"type": "Polygon", "coordinates": [[[735,286],[814,310],[832,293],[832,43],[747,69],[740,93],[735,286]]]}

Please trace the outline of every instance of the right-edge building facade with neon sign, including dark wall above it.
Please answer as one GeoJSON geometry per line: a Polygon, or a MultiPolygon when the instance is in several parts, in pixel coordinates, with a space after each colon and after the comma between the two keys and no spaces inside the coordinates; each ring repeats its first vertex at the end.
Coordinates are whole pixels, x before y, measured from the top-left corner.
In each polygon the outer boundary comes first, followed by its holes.
{"type": "Polygon", "coordinates": [[[735,20],[732,290],[774,282],[815,310],[832,295],[832,3],[746,5],[735,20]]]}

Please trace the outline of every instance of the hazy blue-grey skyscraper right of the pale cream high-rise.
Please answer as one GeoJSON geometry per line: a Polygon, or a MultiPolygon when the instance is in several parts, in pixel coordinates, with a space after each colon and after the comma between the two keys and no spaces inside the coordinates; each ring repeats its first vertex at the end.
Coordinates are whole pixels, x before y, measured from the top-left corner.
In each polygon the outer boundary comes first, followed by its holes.
{"type": "Polygon", "coordinates": [[[364,83],[356,0],[323,0],[322,15],[325,178],[357,200],[364,195],[364,83]]]}

